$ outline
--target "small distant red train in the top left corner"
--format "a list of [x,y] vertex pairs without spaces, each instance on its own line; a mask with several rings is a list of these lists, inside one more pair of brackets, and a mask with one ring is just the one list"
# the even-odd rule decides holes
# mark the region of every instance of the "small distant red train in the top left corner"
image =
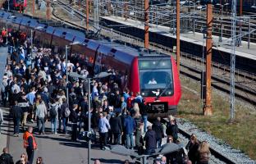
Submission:
[[24,11],[27,7],[27,0],[6,0],[2,7],[7,10]]

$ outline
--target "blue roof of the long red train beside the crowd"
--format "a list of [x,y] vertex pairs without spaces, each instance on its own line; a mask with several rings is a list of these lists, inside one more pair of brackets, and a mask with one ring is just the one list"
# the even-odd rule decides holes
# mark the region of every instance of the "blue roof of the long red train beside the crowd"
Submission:
[[125,62],[126,64],[130,64],[135,57],[142,55],[157,55],[158,57],[161,57],[159,54],[162,54],[163,56],[167,56],[166,54],[159,52],[144,52],[141,51],[140,48],[131,48],[130,46],[118,43],[117,41],[110,41],[108,39],[86,39],[85,33],[81,32],[80,30],[73,30],[62,26],[53,27],[40,23],[41,21],[30,16],[23,16],[21,14],[13,16],[7,11],[0,11],[0,18],[1,17],[3,20],[8,20],[8,22],[10,21],[16,24],[30,26],[34,30],[54,34],[55,36],[65,38],[66,40],[69,40],[75,44],[82,44],[87,48],[94,50],[98,48],[98,52],[115,57],[118,61]]

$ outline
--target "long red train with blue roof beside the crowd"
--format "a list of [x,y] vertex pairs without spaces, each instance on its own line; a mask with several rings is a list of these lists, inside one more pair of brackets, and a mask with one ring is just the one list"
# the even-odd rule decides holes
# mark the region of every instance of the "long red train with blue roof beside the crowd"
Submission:
[[11,16],[11,13],[0,11],[0,25],[5,27],[7,22],[12,30],[21,30],[28,36],[33,34],[33,42],[43,46],[65,48],[73,43],[72,53],[80,54],[80,62],[93,59],[94,74],[103,67],[119,71],[124,77],[121,89],[140,93],[149,107],[149,117],[176,114],[181,99],[181,81],[173,57],[104,39],[86,39],[78,30],[40,24],[29,16]]

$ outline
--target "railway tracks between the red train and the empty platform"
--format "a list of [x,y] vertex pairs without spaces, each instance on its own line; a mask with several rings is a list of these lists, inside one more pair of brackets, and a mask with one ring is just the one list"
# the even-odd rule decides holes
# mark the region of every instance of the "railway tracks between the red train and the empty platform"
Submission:
[[[67,7],[65,2],[58,1],[59,5],[62,5],[63,8],[66,9],[66,11],[70,12],[72,9],[71,7]],[[74,11],[74,10],[73,10]],[[53,13],[54,16],[54,13]],[[85,16],[80,11],[75,11],[75,16],[77,16],[80,20],[85,19]],[[56,16],[58,17],[58,16]],[[62,21],[67,21],[63,20]],[[72,23],[71,21],[68,22],[72,26],[77,26],[76,24]],[[118,38],[119,40],[122,40],[124,43],[131,43],[135,45],[139,45],[141,47],[144,46],[144,42],[141,39],[135,38],[135,36],[129,36],[127,34],[121,34],[121,32],[116,30],[111,30],[107,27],[104,27],[101,25],[101,34],[115,39]],[[81,27],[83,29],[83,27]],[[112,35],[117,35],[117,37],[113,37]],[[122,37],[120,37],[122,36]],[[127,39],[130,38],[130,39]],[[137,41],[136,43],[134,41]],[[151,48],[157,51],[162,51],[167,54],[170,54],[172,52],[171,48],[163,47],[162,45],[151,43]],[[186,76],[190,76],[190,78],[194,80],[201,80],[201,72],[202,72],[202,62],[201,58],[193,57],[192,55],[181,52],[181,73]],[[217,71],[216,71],[217,70]],[[230,68],[229,66],[223,66],[219,65],[218,63],[213,63],[213,87],[219,90],[222,90],[223,92],[229,93],[230,92]],[[245,78],[246,77],[246,78]],[[256,80],[252,79],[252,76],[249,73],[241,73],[241,71],[236,71],[236,78],[237,82],[235,83],[235,96],[237,98],[241,98],[245,100],[246,102],[249,102],[251,104],[256,104],[256,91],[253,86],[256,84]],[[254,78],[254,77],[253,77]],[[239,83],[240,81],[240,83]],[[255,83],[252,84],[248,81],[254,81]],[[249,84],[246,84],[249,83]]]

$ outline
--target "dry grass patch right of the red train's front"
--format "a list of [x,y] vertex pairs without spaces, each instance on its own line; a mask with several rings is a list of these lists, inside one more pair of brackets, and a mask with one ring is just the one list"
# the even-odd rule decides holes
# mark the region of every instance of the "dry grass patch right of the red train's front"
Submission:
[[[256,109],[246,103],[235,102],[235,122],[229,120],[229,95],[213,89],[213,116],[203,116],[200,99],[200,83],[181,75],[182,97],[179,116],[186,118],[202,130],[213,134],[223,143],[240,149],[252,159],[256,159]],[[189,89],[188,89],[189,88]],[[196,93],[192,92],[193,89]]]

